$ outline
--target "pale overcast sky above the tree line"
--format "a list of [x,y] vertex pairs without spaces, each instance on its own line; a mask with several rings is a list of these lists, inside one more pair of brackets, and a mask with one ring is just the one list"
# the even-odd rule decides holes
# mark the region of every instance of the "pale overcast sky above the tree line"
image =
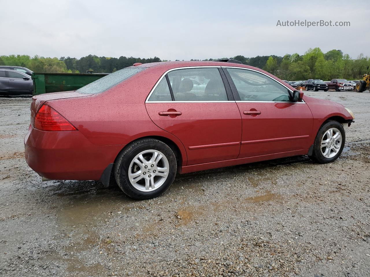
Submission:
[[[368,1],[0,0],[0,55],[161,59],[303,54],[370,56]],[[277,21],[350,27],[276,27]]]

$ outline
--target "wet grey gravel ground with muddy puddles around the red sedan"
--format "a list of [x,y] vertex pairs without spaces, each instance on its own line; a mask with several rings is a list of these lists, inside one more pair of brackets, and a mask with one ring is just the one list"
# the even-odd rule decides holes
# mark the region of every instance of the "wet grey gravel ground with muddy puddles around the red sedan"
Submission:
[[0,98],[0,276],[370,276],[370,93],[331,164],[305,156],[179,175],[132,201],[24,160],[30,98]]

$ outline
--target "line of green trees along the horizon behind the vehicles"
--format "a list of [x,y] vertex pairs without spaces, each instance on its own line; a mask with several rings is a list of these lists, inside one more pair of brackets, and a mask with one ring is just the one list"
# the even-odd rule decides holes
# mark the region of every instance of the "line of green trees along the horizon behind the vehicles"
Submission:
[[[341,50],[330,50],[323,53],[320,48],[309,48],[303,55],[298,53],[286,54],[284,57],[257,56],[247,58],[242,55],[230,57],[242,64],[265,69],[285,80],[307,80],[322,79],[331,80],[335,78],[362,79],[363,73],[368,73],[370,58],[360,54],[356,59]],[[199,59],[191,59],[199,61]],[[212,61],[215,59],[204,59]],[[59,72],[59,73],[85,73],[94,70],[95,73],[111,73],[121,68],[131,66],[136,62],[143,64],[149,62],[167,61],[158,57],[134,58],[124,57],[98,57],[88,55],[80,59],[71,57],[45,58],[40,56],[30,57],[28,55],[0,56],[0,65],[24,66],[35,72]],[[178,60],[176,60],[178,61]]]

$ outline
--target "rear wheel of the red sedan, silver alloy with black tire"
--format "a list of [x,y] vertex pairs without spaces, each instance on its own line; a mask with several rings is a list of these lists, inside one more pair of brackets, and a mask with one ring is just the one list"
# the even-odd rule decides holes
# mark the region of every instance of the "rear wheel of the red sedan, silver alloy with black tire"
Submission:
[[165,192],[175,179],[177,163],[171,148],[155,138],[127,145],[118,156],[114,177],[129,197],[150,199]]

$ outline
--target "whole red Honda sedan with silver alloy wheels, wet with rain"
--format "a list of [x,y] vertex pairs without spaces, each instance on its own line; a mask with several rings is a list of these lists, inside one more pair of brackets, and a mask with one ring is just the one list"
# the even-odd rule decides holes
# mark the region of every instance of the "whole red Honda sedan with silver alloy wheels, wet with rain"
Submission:
[[71,92],[33,96],[28,165],[47,179],[117,182],[135,199],[176,172],[309,155],[336,160],[353,113],[233,62],[134,64]]

